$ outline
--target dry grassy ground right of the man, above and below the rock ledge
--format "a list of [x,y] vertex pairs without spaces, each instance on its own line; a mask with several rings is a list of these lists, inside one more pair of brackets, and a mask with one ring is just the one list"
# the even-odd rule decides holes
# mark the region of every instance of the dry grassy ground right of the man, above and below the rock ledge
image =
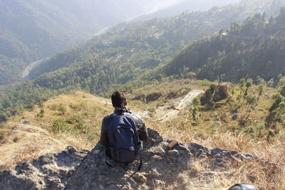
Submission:
[[[249,92],[257,93],[256,88],[250,88]],[[259,189],[285,189],[285,130],[279,126],[279,133],[268,138],[266,135],[268,130],[263,127],[268,108],[273,102],[271,99],[273,94],[274,89],[265,89],[257,107],[250,112],[243,126],[239,124],[239,120],[232,120],[234,114],[238,114],[239,118],[246,118],[248,115],[247,104],[237,101],[239,95],[237,87],[229,104],[224,105],[226,102],[224,100],[214,109],[203,110],[201,106],[196,121],[192,119],[189,109],[181,110],[177,118],[168,122],[147,120],[147,126],[160,132],[163,137],[177,139],[180,142],[196,142],[209,149],[219,147],[246,152],[274,163],[271,165],[264,162],[231,160],[224,169],[226,172],[220,172],[209,169],[204,164],[208,161],[196,160],[194,164],[196,169],[182,173],[181,181],[168,188],[228,189],[233,184],[249,183]],[[160,102],[165,101],[167,100],[160,99]],[[166,104],[168,102],[170,101]],[[145,109],[149,106],[153,105],[142,105]],[[191,176],[195,173],[199,175]]]

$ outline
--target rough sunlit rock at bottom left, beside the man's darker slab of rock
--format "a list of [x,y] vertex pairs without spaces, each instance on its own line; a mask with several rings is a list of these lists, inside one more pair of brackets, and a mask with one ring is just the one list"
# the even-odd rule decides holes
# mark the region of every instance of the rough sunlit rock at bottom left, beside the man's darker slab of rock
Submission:
[[18,164],[11,171],[0,171],[0,189],[63,189],[87,153],[67,147],[58,154],[45,154]]

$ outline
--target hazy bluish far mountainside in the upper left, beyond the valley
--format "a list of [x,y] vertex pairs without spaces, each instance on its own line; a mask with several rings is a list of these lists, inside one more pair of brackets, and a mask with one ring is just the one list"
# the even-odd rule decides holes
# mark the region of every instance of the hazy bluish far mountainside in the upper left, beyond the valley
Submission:
[[29,63],[86,41],[149,7],[132,0],[1,1],[0,85],[21,80]]

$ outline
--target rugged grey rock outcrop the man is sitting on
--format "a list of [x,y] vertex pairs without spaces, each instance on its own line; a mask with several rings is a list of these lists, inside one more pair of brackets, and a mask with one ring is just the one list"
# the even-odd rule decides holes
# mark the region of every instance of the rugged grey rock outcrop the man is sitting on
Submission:
[[177,181],[177,176],[190,170],[197,158],[211,158],[209,167],[223,167],[225,158],[253,159],[225,149],[207,149],[195,143],[179,143],[173,149],[155,130],[148,129],[149,140],[139,161],[129,166],[105,164],[103,148],[97,144],[93,150],[68,147],[58,154],[45,154],[38,159],[17,165],[11,171],[0,172],[0,189],[155,189]]

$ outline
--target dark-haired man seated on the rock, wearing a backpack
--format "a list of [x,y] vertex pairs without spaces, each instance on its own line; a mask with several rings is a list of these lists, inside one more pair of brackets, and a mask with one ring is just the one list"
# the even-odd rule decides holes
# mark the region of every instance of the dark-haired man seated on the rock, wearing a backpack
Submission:
[[111,100],[115,110],[103,119],[100,144],[105,147],[107,157],[128,164],[142,150],[141,140],[147,140],[147,130],[141,117],[126,108],[128,101],[125,92],[113,93]]

